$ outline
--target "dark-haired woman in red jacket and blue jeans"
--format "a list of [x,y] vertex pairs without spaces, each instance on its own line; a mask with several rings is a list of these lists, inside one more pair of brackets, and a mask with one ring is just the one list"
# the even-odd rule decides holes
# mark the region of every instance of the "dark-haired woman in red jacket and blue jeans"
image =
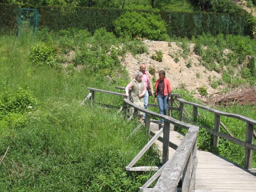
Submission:
[[[165,78],[164,70],[160,70],[158,74],[159,74],[159,79],[156,81],[155,102],[157,98],[160,114],[166,115],[168,100],[171,100],[171,85],[170,85],[170,81],[167,78]],[[161,119],[161,124],[163,127],[164,126],[163,119]]]

